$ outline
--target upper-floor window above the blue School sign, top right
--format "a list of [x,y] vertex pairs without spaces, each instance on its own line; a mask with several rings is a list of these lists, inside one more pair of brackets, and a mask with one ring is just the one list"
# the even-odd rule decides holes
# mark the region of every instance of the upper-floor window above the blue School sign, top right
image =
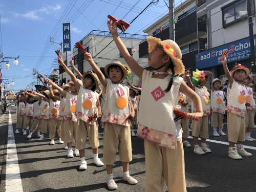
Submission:
[[[223,27],[247,18],[246,0],[232,2],[222,8]],[[254,0],[251,0],[251,14],[255,14]]]

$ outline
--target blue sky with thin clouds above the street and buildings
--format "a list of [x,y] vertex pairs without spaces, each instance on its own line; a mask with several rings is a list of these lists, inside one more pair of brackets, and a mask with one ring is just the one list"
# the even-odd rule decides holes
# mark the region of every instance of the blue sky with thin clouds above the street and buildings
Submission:
[[[126,31],[127,33],[145,34],[143,29],[154,23],[168,12],[165,3],[159,0],[141,14]],[[131,22],[151,1],[146,0],[2,0],[0,54],[4,57],[16,57],[18,66],[13,65],[14,59],[8,59],[10,69],[5,69],[1,63],[2,78],[14,81],[9,89],[19,91],[36,81],[33,78],[33,68],[42,75],[50,75],[56,54],[60,49],[58,44],[51,44],[49,36],[55,42],[62,42],[62,23],[71,23],[71,45],[82,39],[92,30],[108,31],[107,15],[112,14],[118,19]],[[183,1],[182,1],[183,2]],[[176,0],[178,5],[180,1]],[[73,50],[73,47],[71,47]],[[2,61],[2,58],[1,58]],[[4,80],[7,81],[7,80]],[[30,90],[31,90],[31,86]]]

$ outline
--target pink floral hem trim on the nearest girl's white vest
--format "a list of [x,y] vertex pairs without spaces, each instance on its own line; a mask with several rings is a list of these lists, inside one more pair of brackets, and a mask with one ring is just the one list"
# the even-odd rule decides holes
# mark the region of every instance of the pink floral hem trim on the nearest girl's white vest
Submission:
[[176,150],[177,148],[176,135],[156,131],[156,130],[150,129],[150,127],[143,126],[140,123],[138,124],[137,136],[151,143],[154,143],[156,145],[160,145],[166,148],[172,148],[174,150]]

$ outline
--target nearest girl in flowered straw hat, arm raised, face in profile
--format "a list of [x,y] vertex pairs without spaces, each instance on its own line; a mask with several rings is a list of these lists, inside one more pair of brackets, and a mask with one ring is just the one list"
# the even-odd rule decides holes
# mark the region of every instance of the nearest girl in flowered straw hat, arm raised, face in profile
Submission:
[[150,72],[127,51],[117,22],[108,20],[108,27],[123,58],[143,82],[137,136],[145,140],[146,191],[162,191],[164,180],[168,191],[186,191],[182,132],[173,113],[179,91],[197,106],[196,113],[187,113],[188,119],[201,117],[203,112],[198,95],[179,77],[184,74],[180,48],[173,40],[148,37],[148,65],[155,69]]

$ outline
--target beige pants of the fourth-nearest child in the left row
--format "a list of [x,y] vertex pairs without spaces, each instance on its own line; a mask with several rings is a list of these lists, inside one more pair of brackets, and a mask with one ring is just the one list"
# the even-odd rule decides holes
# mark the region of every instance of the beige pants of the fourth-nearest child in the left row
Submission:
[[[66,143],[69,143],[73,140],[73,137],[75,138],[76,137],[76,126],[77,126],[77,123],[75,121],[72,121],[71,119],[70,120],[64,120],[64,136],[65,137],[62,137],[62,139],[64,139],[64,141]],[[61,135],[62,135],[62,132],[61,132]]]

